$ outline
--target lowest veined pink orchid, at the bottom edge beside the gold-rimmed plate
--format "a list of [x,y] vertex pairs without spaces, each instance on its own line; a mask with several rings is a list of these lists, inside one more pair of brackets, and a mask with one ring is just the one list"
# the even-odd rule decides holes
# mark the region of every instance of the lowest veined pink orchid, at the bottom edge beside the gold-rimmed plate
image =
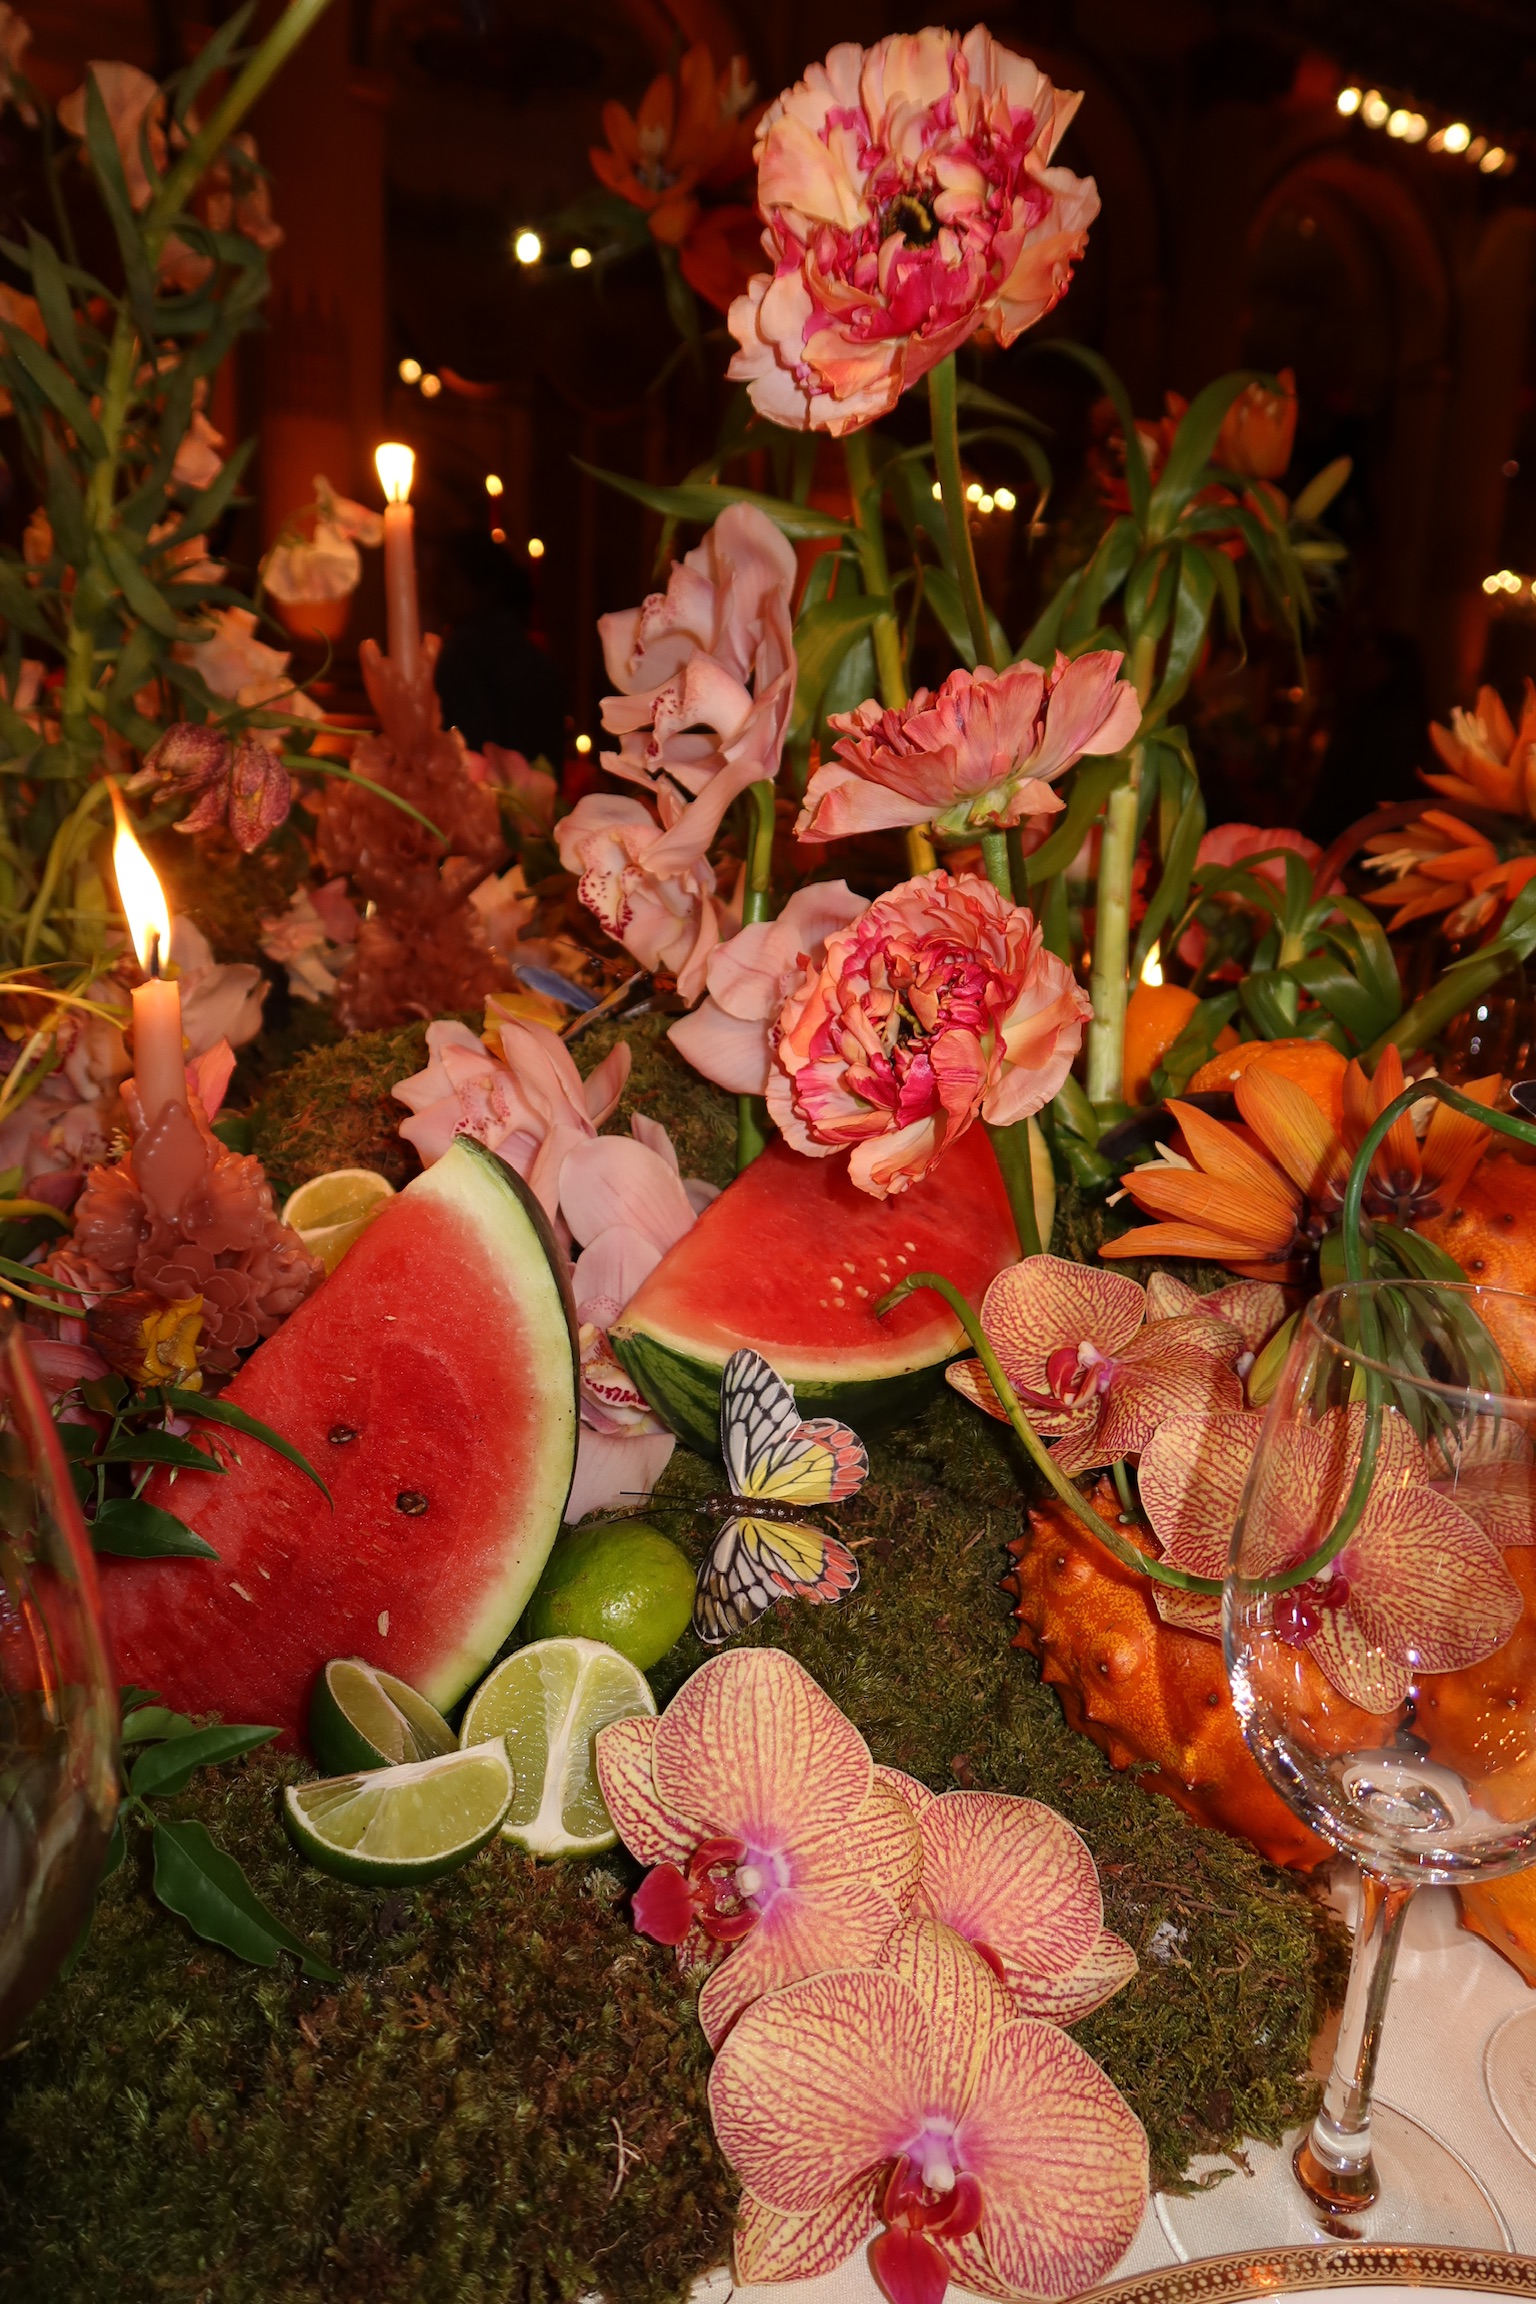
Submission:
[[951,2279],[1071,2297],[1147,2205],[1147,2138],[1115,2085],[930,1919],[907,1919],[880,1968],[746,2009],[709,2113],[746,2186],[739,2281],[834,2272],[880,2226],[868,2260],[891,2304],[940,2304]]

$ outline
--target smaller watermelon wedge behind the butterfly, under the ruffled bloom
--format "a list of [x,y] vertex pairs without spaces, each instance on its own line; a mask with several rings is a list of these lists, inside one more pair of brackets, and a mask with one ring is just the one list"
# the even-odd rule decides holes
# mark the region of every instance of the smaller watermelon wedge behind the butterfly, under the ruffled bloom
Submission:
[[783,1138],[725,1187],[624,1306],[613,1348],[689,1447],[718,1454],[721,1371],[753,1346],[806,1417],[880,1431],[940,1385],[965,1332],[921,1293],[875,1318],[907,1272],[942,1272],[972,1304],[1018,1260],[1018,1233],[981,1129],[891,1200],[847,1182],[847,1161]]

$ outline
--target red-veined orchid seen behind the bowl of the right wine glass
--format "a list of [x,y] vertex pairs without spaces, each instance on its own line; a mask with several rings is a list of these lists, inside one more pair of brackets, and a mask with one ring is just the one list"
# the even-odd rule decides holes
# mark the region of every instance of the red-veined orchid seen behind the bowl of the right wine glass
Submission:
[[[1315,1424],[1280,1426],[1255,1458],[1262,1428],[1257,1415],[1179,1417],[1142,1454],[1142,1505],[1177,1567],[1225,1574],[1250,1470],[1250,1576],[1297,1567],[1336,1525],[1361,1461],[1366,1410],[1331,1408]],[[1432,1486],[1432,1475],[1407,1419],[1386,1408],[1370,1495],[1349,1541],[1317,1576],[1276,1599],[1280,1636],[1306,1647],[1363,1712],[1391,1712],[1419,1673],[1481,1663],[1520,1622],[1522,1594],[1499,1546]],[[1168,1615],[1161,1592],[1158,1606]]]

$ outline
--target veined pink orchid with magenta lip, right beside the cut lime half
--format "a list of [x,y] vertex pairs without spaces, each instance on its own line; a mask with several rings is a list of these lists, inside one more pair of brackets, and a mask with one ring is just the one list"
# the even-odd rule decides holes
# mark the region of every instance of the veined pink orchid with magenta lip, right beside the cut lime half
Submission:
[[728,1958],[698,2000],[714,2048],[762,1993],[877,1958],[912,1901],[919,1832],[868,1744],[774,1647],[712,1657],[659,1721],[599,1730],[619,1839],[652,1871],[636,1928]]

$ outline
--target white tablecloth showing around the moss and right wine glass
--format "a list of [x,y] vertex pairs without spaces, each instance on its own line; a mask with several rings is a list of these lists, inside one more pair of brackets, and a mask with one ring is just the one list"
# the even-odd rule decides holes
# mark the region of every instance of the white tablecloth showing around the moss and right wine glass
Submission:
[[[1536,2256],[1536,2166],[1511,2143],[1483,2085],[1488,2037],[1527,2007],[1536,2007],[1536,1993],[1508,1961],[1455,1924],[1453,1894],[1421,1889],[1407,1915],[1377,2094],[1455,2145],[1492,2193],[1515,2249]],[[1174,2260],[1156,2210],[1147,2207],[1117,2276]],[[965,2290],[949,2295],[960,2304]],[[864,2251],[820,2281],[735,2288],[721,2272],[695,2288],[695,2304],[732,2297],[735,2304],[884,2304]]]

